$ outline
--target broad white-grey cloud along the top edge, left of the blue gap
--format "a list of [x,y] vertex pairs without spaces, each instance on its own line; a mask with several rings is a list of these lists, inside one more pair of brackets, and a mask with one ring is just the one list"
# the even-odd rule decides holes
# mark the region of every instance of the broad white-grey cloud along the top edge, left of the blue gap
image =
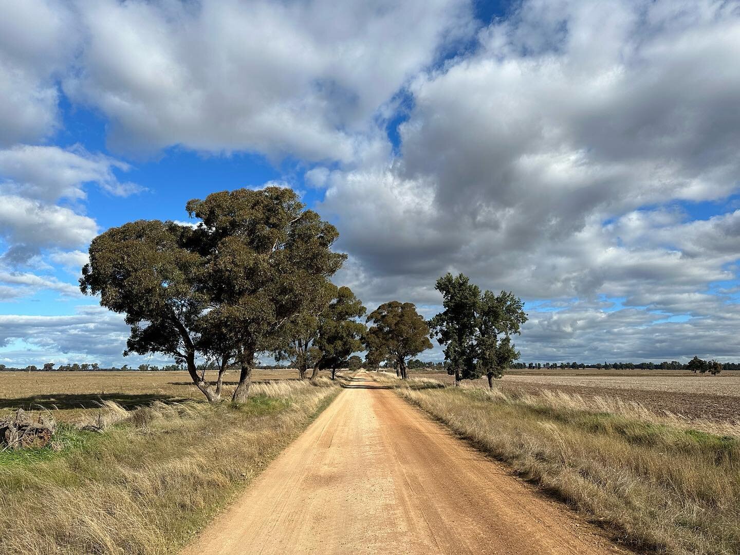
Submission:
[[85,45],[64,90],[127,150],[349,161],[353,131],[471,30],[464,0],[77,5]]

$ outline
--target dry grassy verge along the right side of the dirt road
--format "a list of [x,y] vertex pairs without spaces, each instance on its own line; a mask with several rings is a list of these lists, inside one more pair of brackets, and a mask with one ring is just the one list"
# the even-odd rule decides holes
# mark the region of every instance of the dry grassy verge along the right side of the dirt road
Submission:
[[739,426],[698,426],[608,398],[514,396],[430,382],[411,380],[398,391],[625,544],[670,554],[740,553]]

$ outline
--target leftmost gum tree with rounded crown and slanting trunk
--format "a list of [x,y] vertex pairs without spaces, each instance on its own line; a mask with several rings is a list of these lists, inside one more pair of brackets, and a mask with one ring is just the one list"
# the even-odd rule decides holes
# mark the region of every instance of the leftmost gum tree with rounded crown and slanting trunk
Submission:
[[210,402],[218,397],[198,373],[201,319],[211,299],[203,291],[206,260],[189,248],[193,230],[172,222],[139,220],[112,227],[90,243],[80,289],[100,295],[124,314],[131,332],[124,355],[159,352],[184,362]]

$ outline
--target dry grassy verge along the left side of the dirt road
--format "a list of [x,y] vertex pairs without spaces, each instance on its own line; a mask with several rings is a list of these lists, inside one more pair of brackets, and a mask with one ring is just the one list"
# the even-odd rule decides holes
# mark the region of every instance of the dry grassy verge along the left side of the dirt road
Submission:
[[334,398],[326,381],[258,384],[239,408],[109,402],[90,414],[104,433],[63,424],[59,452],[0,453],[0,553],[176,551]]

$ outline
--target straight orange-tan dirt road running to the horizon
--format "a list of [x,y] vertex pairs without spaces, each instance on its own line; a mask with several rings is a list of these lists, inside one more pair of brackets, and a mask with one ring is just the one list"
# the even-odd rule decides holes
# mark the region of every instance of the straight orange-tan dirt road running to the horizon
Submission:
[[184,551],[615,553],[571,511],[364,372]]

